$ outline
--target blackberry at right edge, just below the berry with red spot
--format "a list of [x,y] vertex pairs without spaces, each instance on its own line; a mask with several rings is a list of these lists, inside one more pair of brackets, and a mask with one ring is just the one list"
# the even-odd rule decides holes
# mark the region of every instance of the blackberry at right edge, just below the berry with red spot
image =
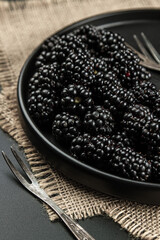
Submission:
[[140,81],[133,88],[133,93],[137,103],[146,105],[148,107],[153,107],[158,97],[156,86],[149,81]]

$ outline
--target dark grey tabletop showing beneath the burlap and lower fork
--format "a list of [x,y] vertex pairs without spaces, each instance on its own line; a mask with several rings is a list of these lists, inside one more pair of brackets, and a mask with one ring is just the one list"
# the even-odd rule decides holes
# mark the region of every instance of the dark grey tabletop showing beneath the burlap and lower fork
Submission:
[[[16,145],[0,130],[0,151],[13,159],[10,145]],[[23,153],[22,153],[23,155]],[[70,240],[74,239],[62,222],[51,223],[39,200],[14,178],[0,154],[0,240]],[[129,240],[112,219],[102,216],[79,221],[96,240]]]

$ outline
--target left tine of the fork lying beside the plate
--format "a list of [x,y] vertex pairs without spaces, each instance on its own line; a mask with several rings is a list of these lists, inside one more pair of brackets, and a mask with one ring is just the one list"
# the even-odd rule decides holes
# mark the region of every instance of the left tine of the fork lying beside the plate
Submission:
[[13,174],[15,175],[15,177],[27,188],[29,189],[30,184],[26,181],[26,179],[20,174],[19,171],[17,171],[17,169],[14,167],[14,165],[12,164],[12,162],[9,160],[9,158],[7,157],[7,155],[5,154],[4,151],[2,151],[2,156],[4,158],[4,160],[6,161],[6,163],[8,164],[9,168],[11,169],[11,171],[13,172]]

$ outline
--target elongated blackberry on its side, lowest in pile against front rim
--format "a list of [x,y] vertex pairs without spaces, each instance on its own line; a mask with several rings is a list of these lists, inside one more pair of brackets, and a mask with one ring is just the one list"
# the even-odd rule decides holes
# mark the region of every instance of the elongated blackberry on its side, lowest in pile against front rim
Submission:
[[138,181],[147,181],[151,175],[151,163],[130,147],[117,147],[109,160],[112,173]]

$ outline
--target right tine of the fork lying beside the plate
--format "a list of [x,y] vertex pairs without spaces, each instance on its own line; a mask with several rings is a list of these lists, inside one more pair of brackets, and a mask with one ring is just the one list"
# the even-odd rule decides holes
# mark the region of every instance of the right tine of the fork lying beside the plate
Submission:
[[12,151],[13,155],[15,156],[17,162],[19,163],[19,165],[21,166],[21,168],[25,172],[25,174],[31,180],[31,182],[33,182],[33,181],[35,182],[35,177],[33,176],[33,174],[30,171],[30,169],[27,167],[27,165],[22,161],[22,159],[20,158],[20,156],[18,155],[16,150],[13,147],[11,147],[11,151]]

